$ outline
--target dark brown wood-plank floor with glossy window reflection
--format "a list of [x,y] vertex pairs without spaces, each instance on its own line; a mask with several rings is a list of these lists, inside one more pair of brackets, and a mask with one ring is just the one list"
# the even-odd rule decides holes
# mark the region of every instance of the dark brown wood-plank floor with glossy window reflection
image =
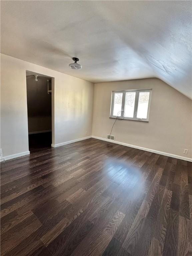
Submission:
[[190,162],[88,139],[1,164],[1,256],[192,255]]

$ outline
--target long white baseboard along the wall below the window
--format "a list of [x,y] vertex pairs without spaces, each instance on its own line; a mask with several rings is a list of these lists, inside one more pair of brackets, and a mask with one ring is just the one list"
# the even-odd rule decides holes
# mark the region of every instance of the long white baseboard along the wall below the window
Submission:
[[166,152],[161,152],[161,151],[150,149],[150,148],[143,148],[143,147],[139,147],[139,146],[135,146],[135,145],[131,145],[131,144],[115,141],[115,140],[109,140],[109,139],[105,139],[105,138],[101,138],[101,137],[96,137],[96,136],[92,136],[92,138],[95,138],[95,139],[98,139],[98,140],[104,140],[104,141],[107,141],[107,142],[112,142],[112,143],[119,144],[119,145],[126,146],[126,147],[141,149],[141,150],[144,150],[144,151],[148,151],[148,152],[151,152],[151,153],[156,153],[156,154],[163,155],[163,156],[169,156],[169,157],[173,157],[173,158],[177,158],[177,159],[192,162],[192,158],[188,158],[188,157],[184,157],[184,156],[178,156],[178,155],[174,155],[174,154],[170,154],[170,153],[166,153]]

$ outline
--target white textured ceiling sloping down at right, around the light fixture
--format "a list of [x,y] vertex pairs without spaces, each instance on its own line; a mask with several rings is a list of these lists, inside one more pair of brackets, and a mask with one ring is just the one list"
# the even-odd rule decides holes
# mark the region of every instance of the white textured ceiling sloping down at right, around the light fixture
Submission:
[[2,53],[91,82],[158,77],[192,98],[191,46],[191,1],[1,1]]

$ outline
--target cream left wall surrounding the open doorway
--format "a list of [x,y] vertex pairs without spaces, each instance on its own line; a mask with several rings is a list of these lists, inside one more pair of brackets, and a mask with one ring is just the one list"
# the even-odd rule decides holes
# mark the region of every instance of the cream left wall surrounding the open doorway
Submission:
[[[54,77],[54,144],[90,136],[91,82],[1,54],[1,148],[3,157],[27,152],[26,70]],[[74,72],[79,72],[74,71]],[[53,84],[52,84],[53,85]]]

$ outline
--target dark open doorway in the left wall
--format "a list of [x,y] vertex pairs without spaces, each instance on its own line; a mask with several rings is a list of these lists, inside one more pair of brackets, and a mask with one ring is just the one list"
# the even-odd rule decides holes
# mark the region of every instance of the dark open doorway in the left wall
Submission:
[[26,71],[29,151],[53,143],[54,78]]

